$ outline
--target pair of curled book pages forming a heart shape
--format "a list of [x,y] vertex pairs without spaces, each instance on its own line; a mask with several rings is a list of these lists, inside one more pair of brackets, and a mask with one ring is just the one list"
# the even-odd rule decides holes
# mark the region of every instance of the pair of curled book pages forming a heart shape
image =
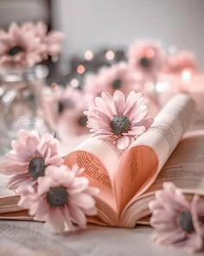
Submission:
[[67,155],[66,164],[72,167],[77,163],[84,167],[83,175],[92,186],[99,187],[102,220],[116,221],[115,216],[110,216],[116,213],[119,218],[129,201],[150,187],[188,128],[193,113],[191,97],[176,95],[156,116],[151,127],[125,152],[116,148],[112,141],[88,138]]

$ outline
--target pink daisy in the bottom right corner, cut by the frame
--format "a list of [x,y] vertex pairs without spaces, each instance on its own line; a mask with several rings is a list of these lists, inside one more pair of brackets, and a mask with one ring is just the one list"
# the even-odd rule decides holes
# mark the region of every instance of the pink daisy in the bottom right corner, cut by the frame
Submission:
[[150,202],[150,224],[155,227],[153,240],[163,246],[201,251],[204,233],[201,228],[203,210],[202,206],[201,211],[198,211],[196,196],[189,202],[181,189],[171,182],[164,182],[163,190],[156,192],[156,200]]

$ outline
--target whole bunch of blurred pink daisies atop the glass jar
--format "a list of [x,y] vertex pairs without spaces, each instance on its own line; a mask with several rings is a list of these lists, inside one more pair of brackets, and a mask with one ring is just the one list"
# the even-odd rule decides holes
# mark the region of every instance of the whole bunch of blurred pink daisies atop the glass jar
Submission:
[[61,50],[62,34],[49,32],[44,23],[11,23],[8,32],[0,30],[0,66],[10,69],[29,69],[35,63],[56,57]]

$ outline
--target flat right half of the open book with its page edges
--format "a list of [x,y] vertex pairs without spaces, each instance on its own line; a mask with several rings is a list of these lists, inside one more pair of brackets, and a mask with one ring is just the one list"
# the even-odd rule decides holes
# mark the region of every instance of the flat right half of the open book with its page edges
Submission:
[[135,226],[137,220],[150,214],[148,204],[155,198],[163,182],[171,181],[188,194],[204,196],[204,131],[188,133],[169,157],[156,181],[141,196],[131,200],[123,214],[124,226]]

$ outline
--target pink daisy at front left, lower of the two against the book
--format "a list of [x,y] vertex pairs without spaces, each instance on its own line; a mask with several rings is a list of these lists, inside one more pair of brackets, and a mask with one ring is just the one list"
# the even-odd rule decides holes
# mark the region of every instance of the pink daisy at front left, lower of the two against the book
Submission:
[[34,220],[45,221],[55,233],[74,230],[74,225],[86,227],[86,215],[97,213],[94,197],[99,189],[89,187],[83,169],[74,166],[47,167],[45,176],[38,179],[35,192],[23,195],[19,206],[29,209]]

